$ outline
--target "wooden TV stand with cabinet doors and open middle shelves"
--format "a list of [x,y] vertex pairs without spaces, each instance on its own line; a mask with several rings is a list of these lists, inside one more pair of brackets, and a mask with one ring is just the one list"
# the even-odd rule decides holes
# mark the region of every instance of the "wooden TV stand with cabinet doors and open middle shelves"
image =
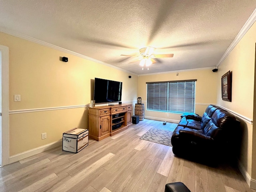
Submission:
[[100,141],[132,124],[132,104],[89,107],[89,137]]

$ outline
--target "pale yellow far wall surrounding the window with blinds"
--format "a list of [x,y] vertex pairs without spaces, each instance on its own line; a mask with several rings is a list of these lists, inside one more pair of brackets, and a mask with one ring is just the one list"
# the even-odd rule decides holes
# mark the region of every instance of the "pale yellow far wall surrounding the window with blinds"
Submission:
[[[197,79],[195,112],[202,115],[208,104],[216,103],[217,76],[218,75],[210,69],[179,72],[178,76],[176,76],[176,72],[139,76],[138,96],[142,98],[146,108],[146,82]],[[167,114],[164,112],[152,112],[147,110],[145,110],[145,116],[165,120],[167,119],[170,122],[177,122],[180,120],[180,114],[170,113],[169,117],[167,117]]]

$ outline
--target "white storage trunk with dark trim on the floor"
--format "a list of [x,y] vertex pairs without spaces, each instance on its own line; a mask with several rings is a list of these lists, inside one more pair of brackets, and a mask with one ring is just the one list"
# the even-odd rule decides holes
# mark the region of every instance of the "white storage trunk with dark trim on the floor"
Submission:
[[88,130],[74,128],[63,133],[62,150],[78,153],[88,146]]

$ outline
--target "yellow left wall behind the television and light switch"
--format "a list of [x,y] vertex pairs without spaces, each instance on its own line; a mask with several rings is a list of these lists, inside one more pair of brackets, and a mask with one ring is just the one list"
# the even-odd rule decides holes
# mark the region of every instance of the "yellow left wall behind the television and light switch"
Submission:
[[[137,100],[136,75],[4,33],[0,44],[9,48],[10,112],[89,105],[95,77],[123,82],[122,101]],[[60,61],[63,56],[68,62]],[[13,101],[14,94],[21,95],[21,102]],[[13,156],[61,140],[71,128],[88,128],[88,107],[10,114],[9,118]],[[42,140],[44,132],[47,138]]]

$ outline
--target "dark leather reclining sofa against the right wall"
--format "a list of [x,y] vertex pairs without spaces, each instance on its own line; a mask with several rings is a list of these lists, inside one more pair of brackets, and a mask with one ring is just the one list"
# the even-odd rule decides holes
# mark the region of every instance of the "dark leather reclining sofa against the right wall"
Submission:
[[239,121],[233,114],[209,105],[203,116],[181,116],[171,142],[172,151],[184,158],[214,162],[234,155],[237,148]]

